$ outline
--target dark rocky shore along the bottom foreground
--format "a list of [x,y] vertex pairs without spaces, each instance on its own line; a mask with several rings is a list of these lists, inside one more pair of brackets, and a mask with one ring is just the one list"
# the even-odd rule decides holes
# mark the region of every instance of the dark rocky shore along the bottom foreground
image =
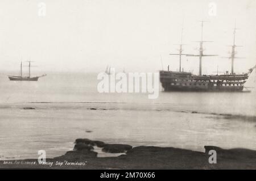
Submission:
[[[118,157],[97,157],[95,148]],[[216,151],[216,162],[209,163],[210,150]],[[205,146],[205,153],[178,148],[107,144],[79,138],[72,151],[60,157],[16,161],[0,161],[0,169],[256,169],[256,151],[221,149]]]

